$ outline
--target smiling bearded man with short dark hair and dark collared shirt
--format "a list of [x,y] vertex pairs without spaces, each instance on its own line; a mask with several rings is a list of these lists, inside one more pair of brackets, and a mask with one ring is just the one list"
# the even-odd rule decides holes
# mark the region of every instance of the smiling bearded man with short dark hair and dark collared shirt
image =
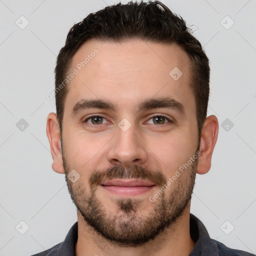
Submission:
[[35,255],[252,255],[190,214],[218,121],[206,117],[208,58],[181,17],[159,1],[90,13],[58,54],[54,94],[52,169],[78,221]]

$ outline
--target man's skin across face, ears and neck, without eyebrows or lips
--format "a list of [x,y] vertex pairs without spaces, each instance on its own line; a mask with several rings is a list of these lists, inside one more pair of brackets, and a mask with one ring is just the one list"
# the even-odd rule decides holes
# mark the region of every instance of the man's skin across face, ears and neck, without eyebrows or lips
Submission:
[[[75,53],[70,70],[94,48],[98,54],[68,85],[62,148],[55,113],[48,114],[46,126],[52,169],[65,175],[75,169],[80,175],[75,182],[66,179],[78,209],[75,255],[142,256],[148,251],[153,256],[189,255],[194,247],[189,234],[190,196],[195,173],[204,174],[210,169],[217,118],[210,115],[205,119],[198,143],[195,98],[188,85],[189,57],[178,45],[142,40],[103,43],[93,39]],[[178,80],[169,75],[175,66],[183,73]],[[166,95],[184,106],[184,115],[162,107],[141,111],[136,108],[141,100]],[[109,100],[118,109],[91,108],[72,116],[74,104],[82,98]],[[92,114],[105,119],[100,119],[101,124],[92,124],[91,118],[84,122]],[[159,124],[153,114],[173,122],[163,119]],[[123,118],[131,125],[126,131],[118,126]],[[149,196],[198,148],[197,160],[151,202]],[[102,188],[100,181],[121,173],[124,178],[131,175],[156,185],[145,193],[126,197]],[[157,219],[163,224],[159,232]]]

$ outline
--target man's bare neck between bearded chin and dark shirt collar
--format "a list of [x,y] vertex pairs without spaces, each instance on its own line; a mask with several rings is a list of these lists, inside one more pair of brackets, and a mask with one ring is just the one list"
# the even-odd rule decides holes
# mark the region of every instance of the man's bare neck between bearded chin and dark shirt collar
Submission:
[[75,255],[144,256],[150,251],[152,256],[188,256],[194,247],[189,233],[189,210],[190,203],[187,204],[182,216],[168,228],[165,228],[154,239],[136,247],[120,247],[106,240],[90,227],[77,211],[78,239],[75,244]]

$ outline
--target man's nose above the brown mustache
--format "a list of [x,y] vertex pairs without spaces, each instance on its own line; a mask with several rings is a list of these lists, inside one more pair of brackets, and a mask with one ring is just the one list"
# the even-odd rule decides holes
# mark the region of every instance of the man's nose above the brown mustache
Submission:
[[146,145],[134,124],[126,131],[117,126],[109,142],[107,159],[110,163],[128,168],[146,162]]

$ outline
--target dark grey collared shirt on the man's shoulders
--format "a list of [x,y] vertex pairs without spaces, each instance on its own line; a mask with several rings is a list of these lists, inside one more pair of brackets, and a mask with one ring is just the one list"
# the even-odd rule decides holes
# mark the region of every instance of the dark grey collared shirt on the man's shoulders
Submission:
[[[223,243],[211,239],[203,223],[190,213],[190,236],[195,245],[189,256],[255,256],[246,251],[231,249]],[[31,256],[75,256],[78,222],[69,229],[65,240],[55,246]]]

